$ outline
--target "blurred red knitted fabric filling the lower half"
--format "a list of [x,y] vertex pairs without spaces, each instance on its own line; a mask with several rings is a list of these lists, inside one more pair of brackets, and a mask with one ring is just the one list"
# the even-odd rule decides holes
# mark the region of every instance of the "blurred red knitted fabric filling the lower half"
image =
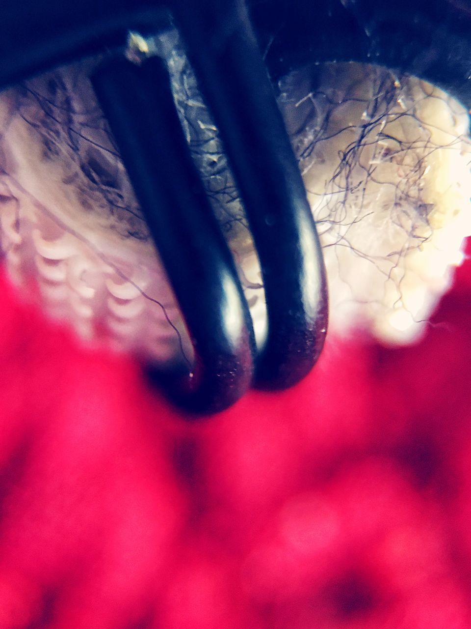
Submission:
[[199,423],[0,284],[0,629],[469,629],[470,262]]

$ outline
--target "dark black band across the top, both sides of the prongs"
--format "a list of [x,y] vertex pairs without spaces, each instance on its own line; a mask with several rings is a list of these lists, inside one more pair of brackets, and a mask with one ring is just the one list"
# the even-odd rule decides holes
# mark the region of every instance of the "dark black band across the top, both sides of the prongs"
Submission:
[[[168,24],[181,0],[16,0],[0,5],[0,86],[77,57],[124,46],[128,30]],[[205,8],[212,0],[190,0]],[[215,3],[222,9],[228,0]],[[471,107],[470,0],[249,0],[275,79],[313,60],[398,68]]]

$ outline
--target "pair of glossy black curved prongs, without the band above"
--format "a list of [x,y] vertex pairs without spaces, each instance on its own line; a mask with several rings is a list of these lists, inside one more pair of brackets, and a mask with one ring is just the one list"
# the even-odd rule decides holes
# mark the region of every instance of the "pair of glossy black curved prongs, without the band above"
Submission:
[[[308,373],[325,337],[327,290],[300,170],[246,8],[175,3],[172,17],[219,128],[260,260],[268,335],[259,355],[241,282],[180,128],[165,62],[113,59],[92,84],[195,347],[191,377],[167,375],[166,389],[188,408],[211,411],[236,401],[252,372],[256,384],[273,388]],[[184,255],[176,257],[176,250]]]

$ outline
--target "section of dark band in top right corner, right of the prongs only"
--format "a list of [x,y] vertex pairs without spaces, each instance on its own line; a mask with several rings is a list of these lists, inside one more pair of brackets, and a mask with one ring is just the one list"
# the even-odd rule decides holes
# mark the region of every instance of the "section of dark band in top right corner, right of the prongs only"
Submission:
[[385,65],[426,79],[471,108],[470,0],[254,0],[274,79],[322,61]]

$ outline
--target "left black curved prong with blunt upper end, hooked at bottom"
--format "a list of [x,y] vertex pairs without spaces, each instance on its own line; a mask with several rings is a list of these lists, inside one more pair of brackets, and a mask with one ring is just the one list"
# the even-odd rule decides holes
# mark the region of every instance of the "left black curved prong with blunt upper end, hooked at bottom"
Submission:
[[180,304],[195,348],[193,374],[162,374],[178,406],[220,411],[250,386],[254,333],[229,248],[183,136],[163,61],[116,58],[95,92]]

